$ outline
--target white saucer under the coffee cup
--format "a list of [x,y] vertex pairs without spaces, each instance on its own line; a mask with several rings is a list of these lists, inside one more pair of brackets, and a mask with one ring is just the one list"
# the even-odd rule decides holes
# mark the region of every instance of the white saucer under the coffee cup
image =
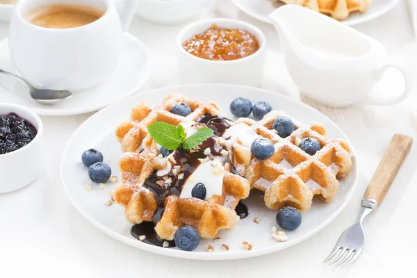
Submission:
[[[2,70],[15,72],[8,55],[8,40],[0,42],[0,65]],[[90,90],[74,92],[69,99],[54,105],[39,104],[33,100],[25,85],[1,74],[1,102],[19,104],[39,115],[76,115],[97,111],[109,104],[133,95],[149,78],[151,61],[145,44],[132,35],[124,35],[124,54],[113,76],[108,81]],[[39,65],[42,70],[42,65]]]

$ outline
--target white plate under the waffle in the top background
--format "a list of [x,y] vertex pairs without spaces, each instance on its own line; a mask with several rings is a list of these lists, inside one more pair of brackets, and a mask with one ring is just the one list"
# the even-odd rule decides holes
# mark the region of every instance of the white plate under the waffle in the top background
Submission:
[[[279,6],[284,5],[284,3],[273,3],[270,0],[232,0],[236,6],[245,14],[250,15],[261,22],[271,23],[268,19],[268,15],[272,13]],[[384,15],[395,5],[398,4],[400,0],[373,0],[372,5],[365,13],[353,13],[343,23],[347,25],[356,25],[363,22],[368,22],[371,19],[375,19]]]

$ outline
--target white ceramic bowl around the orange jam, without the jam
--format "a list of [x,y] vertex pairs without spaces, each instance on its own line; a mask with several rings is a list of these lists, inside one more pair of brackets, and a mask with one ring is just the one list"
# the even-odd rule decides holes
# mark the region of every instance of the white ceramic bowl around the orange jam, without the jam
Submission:
[[[189,54],[183,42],[216,24],[223,28],[240,28],[256,37],[259,49],[237,60],[207,60]],[[262,83],[266,38],[259,28],[235,19],[204,19],[183,28],[177,36],[178,70],[181,83],[229,83],[258,87]]]

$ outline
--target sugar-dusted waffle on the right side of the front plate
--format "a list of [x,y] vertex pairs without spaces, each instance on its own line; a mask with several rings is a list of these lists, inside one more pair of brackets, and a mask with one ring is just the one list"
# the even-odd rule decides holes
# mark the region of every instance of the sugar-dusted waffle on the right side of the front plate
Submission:
[[[338,179],[350,171],[352,160],[350,149],[343,140],[325,138],[325,127],[317,122],[302,126],[293,120],[295,131],[287,138],[281,138],[272,129],[275,119],[285,115],[281,111],[271,111],[259,122],[240,118],[235,124],[247,124],[259,136],[270,139],[275,144],[275,154],[265,161],[252,158],[245,169],[240,170],[250,181],[251,188],[265,192],[266,206],[279,209],[293,206],[307,211],[314,195],[330,202],[336,195]],[[316,138],[322,147],[310,156],[297,147],[302,138]]]

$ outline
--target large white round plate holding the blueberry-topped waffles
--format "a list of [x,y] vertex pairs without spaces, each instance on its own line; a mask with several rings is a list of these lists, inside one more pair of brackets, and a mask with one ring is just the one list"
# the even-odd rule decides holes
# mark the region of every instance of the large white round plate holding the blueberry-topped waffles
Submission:
[[[107,183],[106,188],[102,190],[99,190],[97,184],[92,184],[88,178],[87,167],[81,163],[81,154],[90,147],[99,149],[104,155],[104,162],[111,166],[113,174],[120,177],[117,161],[122,152],[120,143],[115,138],[115,127],[129,119],[132,106],[142,101],[147,101],[149,106],[157,106],[161,104],[163,97],[172,93],[182,93],[200,100],[213,100],[226,117],[232,117],[229,104],[236,97],[247,97],[252,101],[268,101],[274,109],[284,110],[302,123],[311,122],[311,120],[322,122],[327,128],[329,138],[347,139],[345,133],[332,120],[315,109],[276,92],[257,88],[237,85],[186,85],[152,90],[124,99],[92,115],[81,124],[67,143],[60,165],[61,180],[71,202],[88,221],[104,233],[123,243],[166,256],[202,260],[240,259],[276,252],[300,243],[334,220],[350,200],[358,177],[357,163],[354,158],[352,170],[345,179],[340,181],[341,188],[333,202],[327,204],[315,197],[311,209],[302,213],[301,226],[295,231],[288,231],[288,240],[284,243],[271,238],[272,226],[277,226],[276,211],[265,206],[261,193],[251,193],[250,197],[244,200],[249,208],[249,216],[240,220],[235,229],[220,231],[218,236],[222,240],[219,242],[202,239],[197,250],[193,252],[156,247],[136,240],[130,234],[132,224],[124,218],[124,208],[116,203],[112,206],[104,206],[115,184]],[[85,189],[86,183],[92,184],[91,191]],[[259,224],[253,221],[254,218],[260,218]],[[243,249],[240,244],[244,240],[248,240],[254,249],[251,251]],[[230,250],[222,250],[221,243],[229,245]],[[204,250],[208,244],[213,245],[215,252],[208,253]]]

